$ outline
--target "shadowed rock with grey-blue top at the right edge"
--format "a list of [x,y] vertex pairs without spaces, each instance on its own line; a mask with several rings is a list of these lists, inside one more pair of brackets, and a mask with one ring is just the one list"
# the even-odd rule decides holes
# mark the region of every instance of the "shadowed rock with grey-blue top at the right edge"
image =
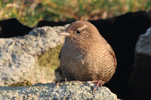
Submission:
[[149,100],[151,90],[151,28],[140,35],[136,44],[134,70],[129,91],[135,100]]

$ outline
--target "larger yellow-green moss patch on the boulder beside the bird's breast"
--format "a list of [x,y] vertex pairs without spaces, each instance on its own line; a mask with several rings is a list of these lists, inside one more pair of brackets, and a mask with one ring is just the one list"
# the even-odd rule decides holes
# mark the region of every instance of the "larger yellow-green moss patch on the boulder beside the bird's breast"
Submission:
[[57,69],[59,66],[59,52],[62,48],[62,45],[57,46],[56,48],[50,49],[41,56],[38,57],[38,63],[41,67],[51,67],[52,69]]

